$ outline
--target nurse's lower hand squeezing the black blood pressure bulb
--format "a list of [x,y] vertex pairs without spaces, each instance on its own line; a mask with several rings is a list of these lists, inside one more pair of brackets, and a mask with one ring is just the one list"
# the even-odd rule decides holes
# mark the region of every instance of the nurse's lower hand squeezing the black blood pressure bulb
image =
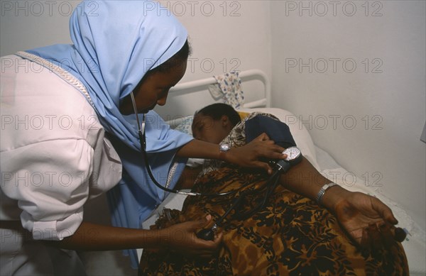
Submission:
[[196,236],[197,231],[211,226],[212,216],[208,215],[199,221],[186,221],[161,229],[160,248],[194,257],[211,258],[219,250],[223,233],[217,234],[214,241],[204,241]]

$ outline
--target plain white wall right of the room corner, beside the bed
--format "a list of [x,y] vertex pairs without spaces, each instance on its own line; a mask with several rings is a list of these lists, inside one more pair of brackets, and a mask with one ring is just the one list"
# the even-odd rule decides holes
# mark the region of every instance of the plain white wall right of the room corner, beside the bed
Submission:
[[425,228],[425,1],[272,1],[271,13],[275,106]]

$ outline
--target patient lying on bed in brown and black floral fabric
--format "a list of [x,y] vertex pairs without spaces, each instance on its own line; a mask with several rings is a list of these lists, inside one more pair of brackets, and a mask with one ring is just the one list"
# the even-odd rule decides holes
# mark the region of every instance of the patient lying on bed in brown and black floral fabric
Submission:
[[[232,147],[267,138],[284,148],[295,145],[288,126],[274,116],[254,113],[240,121],[226,104],[197,111],[192,133],[197,139]],[[202,253],[190,258],[144,250],[141,275],[408,275],[400,244],[405,233],[395,228],[398,221],[391,209],[375,197],[339,186],[327,189],[317,202],[317,193],[330,181],[305,158],[280,175],[264,206],[260,202],[268,180],[265,172],[217,160],[206,160],[201,169],[195,184],[193,177],[182,177],[183,187],[193,186],[193,191],[204,194],[240,188],[239,192],[187,197],[182,211],[165,210],[153,228],[205,214],[215,221],[234,198],[244,195],[219,224],[224,233],[222,248],[209,259],[199,258]],[[261,209],[251,216],[242,215],[258,206]]]

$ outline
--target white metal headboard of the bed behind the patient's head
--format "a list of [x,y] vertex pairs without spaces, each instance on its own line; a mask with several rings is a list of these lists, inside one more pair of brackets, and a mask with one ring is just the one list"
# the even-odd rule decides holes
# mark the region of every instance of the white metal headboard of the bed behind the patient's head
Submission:
[[[263,71],[241,71],[239,77],[245,98],[244,108],[271,106],[271,82]],[[165,121],[175,121],[193,115],[198,109],[220,101],[214,99],[208,90],[209,85],[215,83],[214,77],[207,77],[177,84],[170,89],[167,104],[156,106],[154,110]]]

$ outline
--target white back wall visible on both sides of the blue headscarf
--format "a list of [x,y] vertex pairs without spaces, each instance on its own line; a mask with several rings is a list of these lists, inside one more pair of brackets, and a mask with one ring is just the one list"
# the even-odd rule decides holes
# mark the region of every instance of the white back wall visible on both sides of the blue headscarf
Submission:
[[[2,0],[0,54],[70,43],[68,18],[79,3]],[[184,81],[253,67],[271,74],[269,5],[261,1],[160,3],[177,16],[190,35],[193,52]],[[147,7],[162,14],[168,12],[160,6]]]

